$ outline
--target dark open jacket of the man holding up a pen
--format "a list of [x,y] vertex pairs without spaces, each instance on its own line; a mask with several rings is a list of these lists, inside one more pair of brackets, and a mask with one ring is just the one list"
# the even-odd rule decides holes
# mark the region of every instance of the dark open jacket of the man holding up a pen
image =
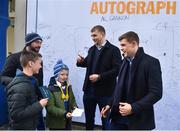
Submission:
[[[89,75],[92,63],[93,55],[97,47],[94,45],[88,51],[88,56],[85,58],[84,62],[81,64],[77,63],[77,66],[86,67],[86,76],[83,85],[83,91],[86,92],[90,85]],[[116,46],[110,44],[109,41],[106,42],[103,47],[99,59],[97,61],[95,74],[100,74],[100,80],[94,83],[94,93],[97,96],[111,96],[115,84],[118,70],[121,64],[120,50]]]

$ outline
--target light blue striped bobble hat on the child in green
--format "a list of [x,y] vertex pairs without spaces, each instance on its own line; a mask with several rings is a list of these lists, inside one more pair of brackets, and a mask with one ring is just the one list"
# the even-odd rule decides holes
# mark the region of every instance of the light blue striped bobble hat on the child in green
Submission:
[[56,62],[56,65],[54,66],[54,76],[55,76],[55,77],[58,77],[59,72],[60,72],[61,70],[63,70],[63,69],[69,70],[69,68],[67,67],[67,65],[65,65],[65,64],[62,62],[62,60],[60,59],[60,60],[58,60],[58,61]]

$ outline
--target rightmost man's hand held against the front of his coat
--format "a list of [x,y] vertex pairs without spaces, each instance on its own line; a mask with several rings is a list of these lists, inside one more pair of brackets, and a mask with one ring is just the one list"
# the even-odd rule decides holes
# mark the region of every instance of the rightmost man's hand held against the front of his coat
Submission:
[[119,113],[122,116],[128,116],[128,115],[132,114],[132,107],[131,107],[131,105],[128,104],[128,103],[120,102],[119,103]]

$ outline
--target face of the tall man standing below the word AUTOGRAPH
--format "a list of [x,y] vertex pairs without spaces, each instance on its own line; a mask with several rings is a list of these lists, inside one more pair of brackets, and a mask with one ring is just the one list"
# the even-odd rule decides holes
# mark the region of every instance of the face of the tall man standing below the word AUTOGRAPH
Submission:
[[94,32],[91,32],[91,37],[95,44],[100,45],[104,40],[105,34],[103,32],[95,30]]

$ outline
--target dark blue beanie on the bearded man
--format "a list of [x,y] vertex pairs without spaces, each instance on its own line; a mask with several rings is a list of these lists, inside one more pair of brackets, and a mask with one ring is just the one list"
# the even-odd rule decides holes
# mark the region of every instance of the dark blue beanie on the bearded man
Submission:
[[41,40],[42,38],[39,34],[37,33],[29,33],[26,35],[25,37],[25,42],[26,42],[26,46],[29,46],[32,42],[36,41],[36,40]]

